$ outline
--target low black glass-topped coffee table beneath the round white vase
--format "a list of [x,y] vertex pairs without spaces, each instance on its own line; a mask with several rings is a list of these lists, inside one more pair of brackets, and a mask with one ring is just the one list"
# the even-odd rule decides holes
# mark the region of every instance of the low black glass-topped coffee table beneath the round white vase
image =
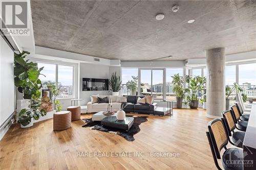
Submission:
[[134,117],[124,117],[123,120],[118,120],[116,116],[108,116],[100,121],[100,124],[103,126],[122,129],[126,131],[130,130],[130,128],[133,126],[133,123]]

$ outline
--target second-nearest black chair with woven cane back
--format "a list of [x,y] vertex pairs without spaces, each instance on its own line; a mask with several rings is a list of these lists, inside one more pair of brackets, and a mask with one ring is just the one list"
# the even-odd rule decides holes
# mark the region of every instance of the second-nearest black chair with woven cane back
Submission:
[[233,115],[229,110],[222,112],[222,116],[223,116],[222,122],[225,125],[226,132],[228,136],[232,137],[232,141],[230,140],[229,137],[228,137],[228,141],[236,147],[243,148],[245,132],[242,132],[242,131],[234,132],[234,130],[236,129],[236,124],[234,123]]

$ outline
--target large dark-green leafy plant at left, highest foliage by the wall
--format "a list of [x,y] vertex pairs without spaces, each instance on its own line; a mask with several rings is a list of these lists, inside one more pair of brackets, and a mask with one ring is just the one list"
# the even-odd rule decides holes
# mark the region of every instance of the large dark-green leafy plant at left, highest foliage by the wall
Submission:
[[42,84],[38,77],[44,67],[38,69],[37,63],[25,60],[28,54],[26,51],[14,53],[14,84],[23,93],[24,99],[32,99],[32,96],[39,98]]

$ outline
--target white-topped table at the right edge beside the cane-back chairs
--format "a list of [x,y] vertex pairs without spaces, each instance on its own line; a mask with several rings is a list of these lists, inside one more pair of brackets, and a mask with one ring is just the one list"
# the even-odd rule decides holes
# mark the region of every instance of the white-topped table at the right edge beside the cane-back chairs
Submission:
[[256,102],[251,105],[243,142],[243,169],[256,169]]

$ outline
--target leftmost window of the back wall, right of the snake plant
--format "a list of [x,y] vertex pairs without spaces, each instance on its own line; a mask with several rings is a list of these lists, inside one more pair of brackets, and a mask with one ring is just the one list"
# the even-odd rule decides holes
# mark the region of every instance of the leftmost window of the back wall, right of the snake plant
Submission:
[[123,95],[133,95],[132,90],[126,86],[128,82],[131,86],[136,84],[137,89],[134,91],[134,95],[136,95],[138,91],[138,68],[122,68]]

